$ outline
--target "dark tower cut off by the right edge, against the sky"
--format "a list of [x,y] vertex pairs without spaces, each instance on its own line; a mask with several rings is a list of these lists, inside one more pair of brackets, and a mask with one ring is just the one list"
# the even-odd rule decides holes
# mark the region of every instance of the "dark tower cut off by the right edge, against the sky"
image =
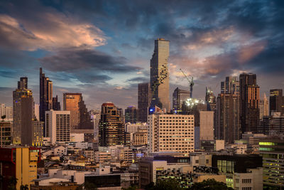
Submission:
[[271,112],[282,112],[282,102],[283,91],[282,89],[271,89],[271,94],[269,96],[269,107]]

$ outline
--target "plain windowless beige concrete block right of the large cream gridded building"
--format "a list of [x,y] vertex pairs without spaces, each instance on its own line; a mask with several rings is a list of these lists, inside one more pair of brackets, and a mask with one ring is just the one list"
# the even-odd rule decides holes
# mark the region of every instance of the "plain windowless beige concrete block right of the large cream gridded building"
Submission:
[[200,140],[214,139],[214,112],[200,111]]

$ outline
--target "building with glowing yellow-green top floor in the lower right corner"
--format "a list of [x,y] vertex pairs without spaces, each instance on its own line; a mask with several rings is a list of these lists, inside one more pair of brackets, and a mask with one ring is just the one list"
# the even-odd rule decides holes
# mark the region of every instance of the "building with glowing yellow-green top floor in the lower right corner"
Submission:
[[284,187],[284,139],[271,137],[259,142],[263,157],[263,186],[283,189]]

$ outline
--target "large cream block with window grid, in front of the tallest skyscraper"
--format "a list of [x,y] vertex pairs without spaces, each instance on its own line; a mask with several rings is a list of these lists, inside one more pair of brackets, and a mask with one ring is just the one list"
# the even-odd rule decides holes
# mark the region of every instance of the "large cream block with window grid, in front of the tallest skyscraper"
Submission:
[[148,115],[148,152],[194,152],[193,115]]

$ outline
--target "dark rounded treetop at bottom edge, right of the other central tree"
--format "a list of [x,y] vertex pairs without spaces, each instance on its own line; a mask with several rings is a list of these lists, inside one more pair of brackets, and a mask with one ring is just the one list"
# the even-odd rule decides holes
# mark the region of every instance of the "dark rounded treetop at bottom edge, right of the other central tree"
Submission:
[[225,183],[216,181],[215,179],[207,179],[202,182],[196,182],[192,184],[189,190],[200,190],[200,189],[219,189],[219,190],[233,190],[231,187],[226,186]]

